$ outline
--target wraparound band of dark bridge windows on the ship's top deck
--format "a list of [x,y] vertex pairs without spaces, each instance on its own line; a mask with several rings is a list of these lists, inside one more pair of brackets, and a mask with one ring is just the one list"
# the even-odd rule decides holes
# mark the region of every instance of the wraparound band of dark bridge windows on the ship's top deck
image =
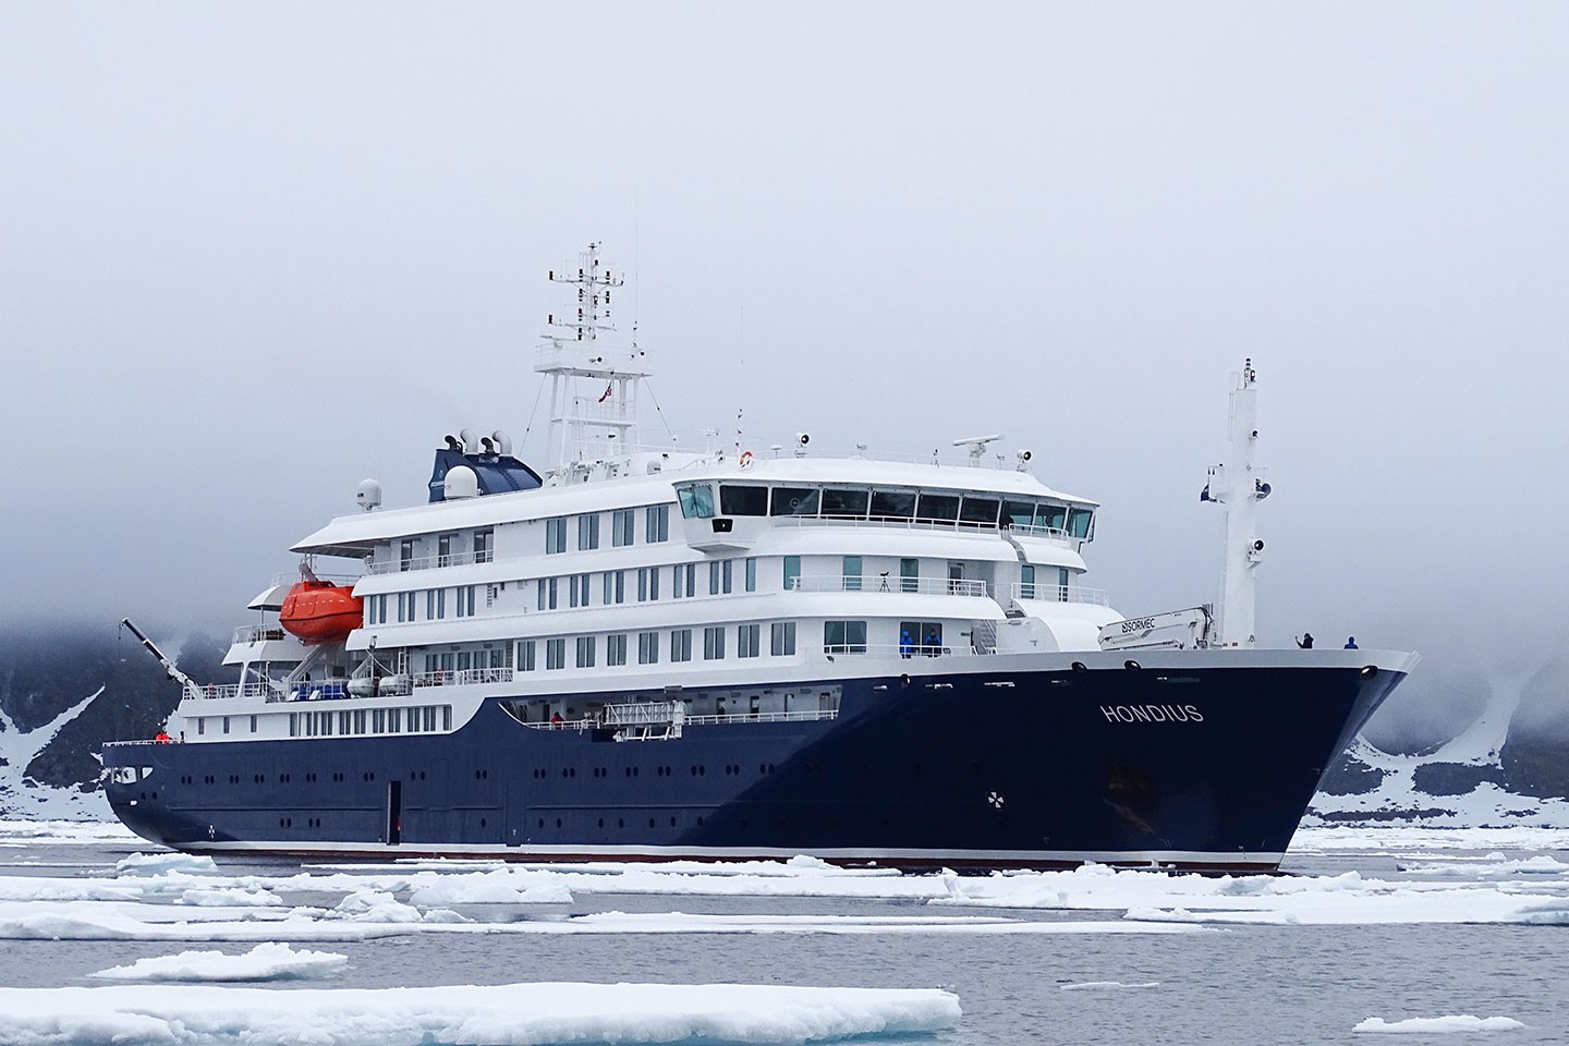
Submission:
[[676,489],[687,519],[719,516],[811,516],[1045,530],[1087,541],[1094,510],[1034,497],[965,494],[960,491],[877,489],[850,486],[750,486],[692,483]]

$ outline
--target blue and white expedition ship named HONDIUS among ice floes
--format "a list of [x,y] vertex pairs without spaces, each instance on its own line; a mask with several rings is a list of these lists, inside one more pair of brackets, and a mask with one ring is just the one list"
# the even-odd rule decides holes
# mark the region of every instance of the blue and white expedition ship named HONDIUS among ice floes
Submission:
[[1202,494],[1227,518],[1218,613],[1128,616],[1083,583],[1098,505],[999,436],[954,461],[640,444],[620,279],[598,246],[551,279],[576,296],[535,362],[551,467],[464,430],[428,502],[361,485],[251,601],[238,679],[163,659],[165,732],[104,746],[133,831],[215,855],[1272,870],[1415,665],[1257,646],[1250,362]]

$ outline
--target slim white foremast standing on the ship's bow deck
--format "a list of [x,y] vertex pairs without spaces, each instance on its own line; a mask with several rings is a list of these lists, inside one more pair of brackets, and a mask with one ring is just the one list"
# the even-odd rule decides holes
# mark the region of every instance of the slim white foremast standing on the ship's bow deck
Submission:
[[1221,597],[1221,645],[1254,646],[1254,569],[1263,558],[1265,543],[1254,532],[1258,502],[1269,497],[1269,485],[1255,461],[1258,449],[1258,375],[1254,361],[1243,361],[1243,372],[1232,375],[1230,453],[1210,469],[1210,485],[1200,500],[1225,505],[1225,591]]

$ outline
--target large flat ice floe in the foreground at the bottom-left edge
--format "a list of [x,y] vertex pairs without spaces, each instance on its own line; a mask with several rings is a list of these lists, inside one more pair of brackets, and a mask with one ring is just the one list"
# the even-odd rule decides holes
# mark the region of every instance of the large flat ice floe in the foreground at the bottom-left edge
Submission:
[[438,988],[0,988],[8,1046],[825,1043],[954,1027],[938,990],[522,983]]

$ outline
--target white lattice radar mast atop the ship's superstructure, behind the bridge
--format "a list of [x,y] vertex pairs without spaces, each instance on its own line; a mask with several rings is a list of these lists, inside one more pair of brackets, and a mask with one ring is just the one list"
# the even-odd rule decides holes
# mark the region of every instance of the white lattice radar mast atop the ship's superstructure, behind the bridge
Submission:
[[577,301],[566,306],[544,336],[533,369],[551,376],[551,431],[546,456],[557,474],[571,466],[618,458],[632,452],[637,433],[637,386],[648,376],[643,353],[604,348],[601,331],[610,323],[610,292],[624,281],[599,260],[599,245],[590,243],[551,282],[571,284]]

